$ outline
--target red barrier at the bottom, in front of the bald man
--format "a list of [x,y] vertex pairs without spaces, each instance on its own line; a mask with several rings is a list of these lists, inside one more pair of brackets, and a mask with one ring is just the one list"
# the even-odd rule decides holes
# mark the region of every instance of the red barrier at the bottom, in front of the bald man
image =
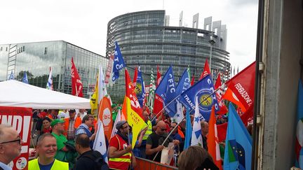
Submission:
[[146,160],[141,157],[136,157],[137,165],[134,170],[174,170],[177,167],[171,167],[166,164],[161,164],[159,162],[154,162],[151,160]]

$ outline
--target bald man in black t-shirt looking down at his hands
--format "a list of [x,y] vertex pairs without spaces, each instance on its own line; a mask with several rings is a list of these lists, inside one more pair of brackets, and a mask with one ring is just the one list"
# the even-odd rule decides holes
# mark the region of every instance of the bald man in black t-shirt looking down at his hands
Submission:
[[163,122],[163,120],[160,120],[156,125],[156,131],[147,137],[147,145],[145,150],[147,159],[153,160],[156,153],[159,152],[154,161],[161,162],[161,151],[163,150],[164,146],[167,147],[168,143],[170,142],[173,142],[175,145],[179,145],[179,141],[173,140],[172,136],[169,136],[166,143],[163,144],[163,141],[167,136],[168,134],[166,133],[166,123]]

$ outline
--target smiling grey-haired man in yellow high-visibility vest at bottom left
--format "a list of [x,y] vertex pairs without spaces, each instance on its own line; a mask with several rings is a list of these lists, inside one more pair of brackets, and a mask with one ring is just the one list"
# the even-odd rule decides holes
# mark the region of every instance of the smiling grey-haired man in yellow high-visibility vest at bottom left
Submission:
[[53,134],[43,134],[40,136],[37,146],[38,158],[29,161],[30,170],[68,170],[69,164],[55,159],[57,152],[57,142]]

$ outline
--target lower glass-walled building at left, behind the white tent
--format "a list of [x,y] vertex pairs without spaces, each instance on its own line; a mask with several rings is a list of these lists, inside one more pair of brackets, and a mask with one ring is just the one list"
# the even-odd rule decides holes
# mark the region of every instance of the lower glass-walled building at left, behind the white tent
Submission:
[[105,70],[108,59],[66,41],[0,45],[0,81],[7,80],[12,72],[21,80],[26,71],[29,84],[45,88],[51,67],[53,89],[71,94],[72,57],[83,83],[83,97],[90,98],[99,64]]

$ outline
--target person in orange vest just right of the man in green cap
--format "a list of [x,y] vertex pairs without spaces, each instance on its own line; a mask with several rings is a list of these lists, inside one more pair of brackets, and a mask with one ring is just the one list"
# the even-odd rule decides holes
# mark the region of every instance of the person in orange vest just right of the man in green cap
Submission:
[[75,110],[69,110],[69,118],[65,118],[65,136],[68,141],[74,141],[76,129],[81,125],[81,118],[76,117]]

